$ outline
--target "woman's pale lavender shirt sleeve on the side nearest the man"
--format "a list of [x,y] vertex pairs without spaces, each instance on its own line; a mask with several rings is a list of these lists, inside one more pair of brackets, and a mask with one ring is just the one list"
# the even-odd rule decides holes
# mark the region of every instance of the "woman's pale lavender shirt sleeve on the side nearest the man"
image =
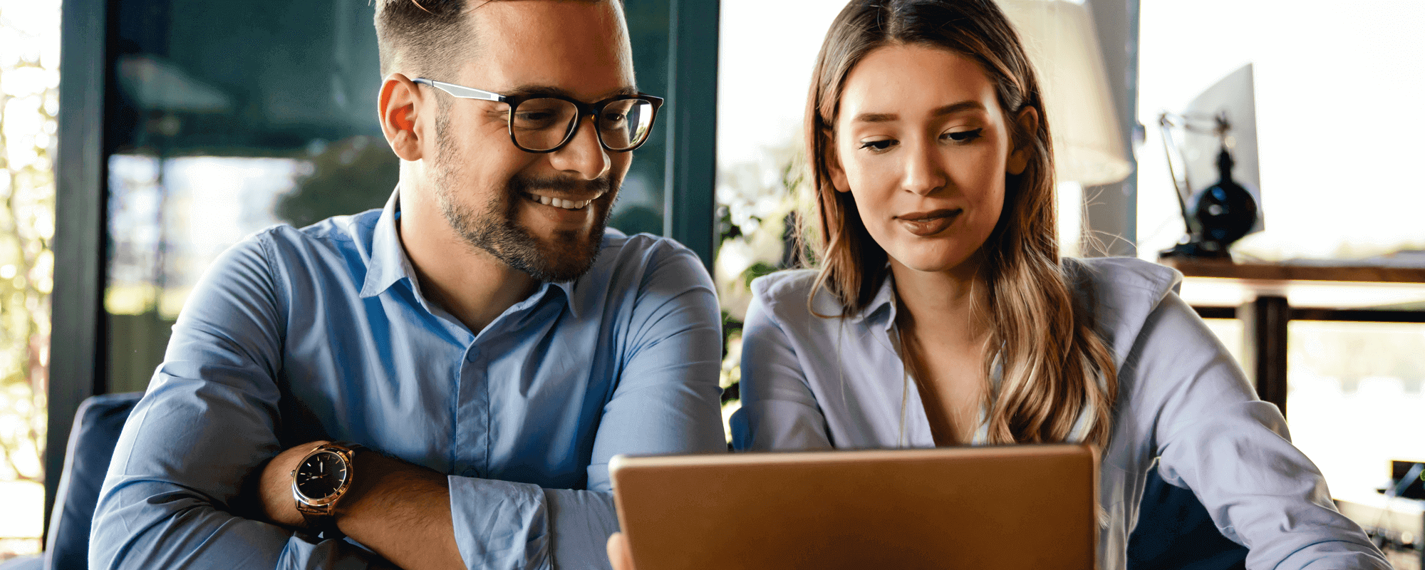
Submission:
[[752,284],[742,322],[742,408],[732,413],[732,447],[799,450],[831,447],[826,419],[782,325],[767,306],[767,285]]

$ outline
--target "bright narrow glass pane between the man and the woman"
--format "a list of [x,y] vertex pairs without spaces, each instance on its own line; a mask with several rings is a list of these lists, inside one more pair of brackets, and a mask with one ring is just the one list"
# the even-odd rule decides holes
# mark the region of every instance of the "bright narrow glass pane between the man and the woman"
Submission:
[[[741,322],[754,276],[785,268],[795,249],[802,114],[817,51],[844,1],[722,0],[717,94],[717,252],[712,279],[727,314],[722,388],[741,378]],[[795,21],[797,26],[787,26]],[[757,41],[747,41],[757,38]],[[775,56],[775,64],[768,54]],[[809,198],[801,198],[809,204]],[[791,228],[789,228],[791,225]],[[737,410],[735,392],[722,409]],[[731,433],[728,433],[731,440]]]

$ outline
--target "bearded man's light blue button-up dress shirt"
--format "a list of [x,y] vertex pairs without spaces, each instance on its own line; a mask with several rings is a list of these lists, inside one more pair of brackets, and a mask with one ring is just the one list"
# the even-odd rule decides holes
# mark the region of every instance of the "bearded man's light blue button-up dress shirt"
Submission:
[[242,517],[258,467],[315,439],[447,473],[470,569],[607,567],[613,455],[725,452],[721,318],[697,255],[610,229],[589,274],[476,333],[422,296],[396,204],[275,227],[214,262],[124,426],[91,569],[390,567]]

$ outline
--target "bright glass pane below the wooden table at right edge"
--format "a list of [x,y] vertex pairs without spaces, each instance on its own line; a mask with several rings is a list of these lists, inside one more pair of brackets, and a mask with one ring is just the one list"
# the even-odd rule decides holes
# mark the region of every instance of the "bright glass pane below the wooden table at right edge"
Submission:
[[1425,323],[1294,321],[1291,439],[1337,499],[1374,504],[1391,459],[1425,460]]

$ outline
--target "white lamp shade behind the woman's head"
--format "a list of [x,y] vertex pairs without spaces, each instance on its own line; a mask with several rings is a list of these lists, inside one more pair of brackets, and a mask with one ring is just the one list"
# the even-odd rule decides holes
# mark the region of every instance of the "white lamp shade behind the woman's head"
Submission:
[[1087,7],[1067,0],[996,3],[1039,73],[1059,181],[1100,185],[1127,178],[1133,164]]

